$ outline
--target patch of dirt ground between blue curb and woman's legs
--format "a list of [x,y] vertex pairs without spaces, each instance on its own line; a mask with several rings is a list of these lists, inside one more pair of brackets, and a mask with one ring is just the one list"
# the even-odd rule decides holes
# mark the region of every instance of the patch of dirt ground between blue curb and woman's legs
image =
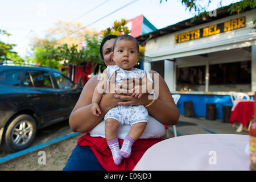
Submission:
[[[79,134],[0,164],[0,171],[62,171],[75,148]],[[42,158],[39,151],[44,151]],[[45,164],[44,164],[45,162]],[[39,164],[41,163],[41,164]]]

